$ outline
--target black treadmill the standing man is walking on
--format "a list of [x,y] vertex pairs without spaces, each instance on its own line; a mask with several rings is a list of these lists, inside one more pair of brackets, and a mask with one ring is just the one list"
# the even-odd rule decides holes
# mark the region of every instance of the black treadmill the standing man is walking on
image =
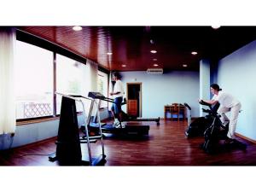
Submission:
[[[99,99],[102,101],[113,103],[113,99],[105,97],[99,92],[89,92],[88,97],[90,97],[93,101],[95,101],[96,99]],[[90,107],[90,117],[92,116],[91,115],[92,109],[93,109],[93,106]],[[102,124],[101,120],[99,118],[97,119],[98,119],[97,122],[90,121],[88,123],[88,127],[92,134],[96,134],[97,131],[101,129],[102,133],[122,134],[122,135],[129,135],[129,136],[145,136],[145,135],[148,135],[148,131],[150,128],[149,125],[142,125],[134,122],[125,122],[124,126],[121,125],[121,128],[115,128],[112,124]]]

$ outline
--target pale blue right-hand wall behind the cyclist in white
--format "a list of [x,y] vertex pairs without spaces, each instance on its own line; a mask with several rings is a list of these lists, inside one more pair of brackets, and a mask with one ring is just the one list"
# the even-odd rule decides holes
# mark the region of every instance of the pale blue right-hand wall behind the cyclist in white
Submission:
[[256,140],[256,41],[218,62],[218,84],[241,102],[236,132]]

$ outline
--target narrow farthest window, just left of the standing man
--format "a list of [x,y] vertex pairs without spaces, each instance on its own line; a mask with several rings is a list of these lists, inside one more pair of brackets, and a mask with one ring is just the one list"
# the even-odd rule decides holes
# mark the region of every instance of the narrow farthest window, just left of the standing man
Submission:
[[[108,74],[98,71],[97,89],[103,96],[108,97]],[[108,108],[108,102],[101,101],[100,108]]]

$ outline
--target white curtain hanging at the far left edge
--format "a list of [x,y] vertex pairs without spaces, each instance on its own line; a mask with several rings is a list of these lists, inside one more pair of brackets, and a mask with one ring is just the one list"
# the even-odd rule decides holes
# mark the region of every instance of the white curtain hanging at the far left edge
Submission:
[[0,135],[15,133],[14,27],[0,27]]

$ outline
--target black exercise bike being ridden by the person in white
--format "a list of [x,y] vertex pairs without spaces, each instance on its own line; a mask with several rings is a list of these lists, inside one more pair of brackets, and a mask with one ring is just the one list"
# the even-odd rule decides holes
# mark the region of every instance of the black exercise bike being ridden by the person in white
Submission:
[[212,107],[207,102],[200,102],[201,105],[208,106],[209,109],[202,109],[204,113],[208,113],[213,119],[212,124],[207,127],[204,132],[205,142],[201,144],[201,148],[209,154],[219,152],[220,149],[231,150],[231,149],[242,149],[247,148],[247,144],[241,143],[240,141],[233,139],[230,143],[220,143],[221,140],[226,140],[227,133],[229,131],[229,123],[224,125],[220,118],[220,115],[212,110]]

